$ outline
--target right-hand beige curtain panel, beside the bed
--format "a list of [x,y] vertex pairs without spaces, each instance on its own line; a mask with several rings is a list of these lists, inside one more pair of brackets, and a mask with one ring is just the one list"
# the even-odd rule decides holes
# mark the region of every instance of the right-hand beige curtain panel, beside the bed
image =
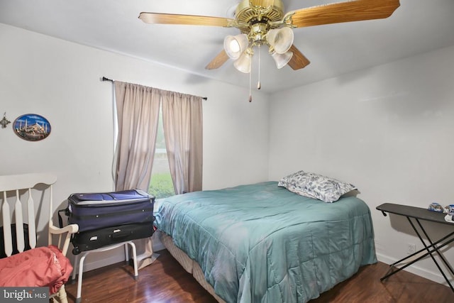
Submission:
[[162,92],[162,123],[176,194],[201,190],[202,99]]

